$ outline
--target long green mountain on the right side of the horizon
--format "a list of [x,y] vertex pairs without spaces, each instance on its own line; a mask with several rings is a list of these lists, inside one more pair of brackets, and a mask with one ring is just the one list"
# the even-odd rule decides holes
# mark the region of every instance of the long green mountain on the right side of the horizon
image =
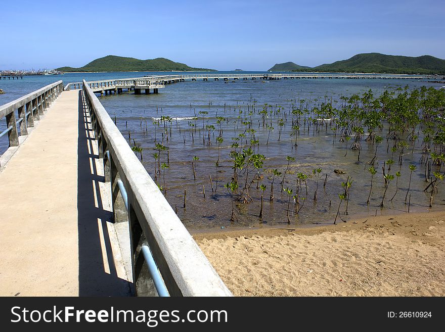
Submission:
[[[270,70],[278,71],[277,69],[274,69],[276,66],[277,65]],[[445,60],[428,55],[421,57],[404,57],[380,53],[362,53],[355,55],[350,59],[336,61],[331,64],[323,64],[313,68],[295,68],[291,70],[347,73],[445,74]]]

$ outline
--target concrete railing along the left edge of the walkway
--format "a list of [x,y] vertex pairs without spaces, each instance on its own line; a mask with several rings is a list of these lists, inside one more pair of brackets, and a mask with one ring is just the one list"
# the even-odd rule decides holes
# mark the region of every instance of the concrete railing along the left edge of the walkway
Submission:
[[34,120],[40,119],[63,90],[62,81],[57,81],[0,106],[0,119],[6,118],[6,130],[0,132],[0,137],[8,134],[9,147],[19,146],[20,136],[28,135],[28,128],[34,127]]

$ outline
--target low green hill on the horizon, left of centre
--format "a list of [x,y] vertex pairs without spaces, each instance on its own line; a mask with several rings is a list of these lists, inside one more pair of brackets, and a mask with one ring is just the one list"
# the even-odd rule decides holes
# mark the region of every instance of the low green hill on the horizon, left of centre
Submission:
[[193,68],[186,64],[173,62],[165,58],[139,60],[117,56],[106,56],[96,59],[80,68],[61,67],[63,72],[110,72],[110,71],[213,71],[214,69]]

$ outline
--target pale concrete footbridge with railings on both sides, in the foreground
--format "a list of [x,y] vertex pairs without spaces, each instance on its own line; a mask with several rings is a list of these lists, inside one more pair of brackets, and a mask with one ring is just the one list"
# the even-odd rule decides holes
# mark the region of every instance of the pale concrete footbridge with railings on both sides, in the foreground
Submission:
[[94,84],[58,81],[0,106],[0,119],[1,296],[232,295]]

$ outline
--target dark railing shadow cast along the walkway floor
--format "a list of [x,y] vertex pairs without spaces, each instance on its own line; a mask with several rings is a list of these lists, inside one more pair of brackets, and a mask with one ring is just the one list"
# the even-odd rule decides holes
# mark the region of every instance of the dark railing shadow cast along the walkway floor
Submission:
[[[130,283],[118,277],[108,228],[112,213],[104,210],[94,154],[94,131],[79,91],[77,148],[77,210],[79,241],[79,296],[129,296]],[[97,204],[95,203],[95,198]],[[114,231],[114,230],[113,230]]]

